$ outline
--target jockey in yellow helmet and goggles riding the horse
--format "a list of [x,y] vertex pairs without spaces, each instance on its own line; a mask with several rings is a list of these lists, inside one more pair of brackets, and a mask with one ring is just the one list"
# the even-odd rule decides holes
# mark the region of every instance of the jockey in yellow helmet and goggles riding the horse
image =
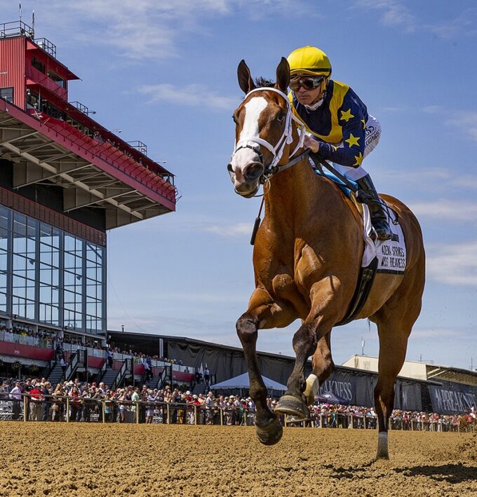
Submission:
[[379,142],[381,125],[348,85],[330,79],[331,64],[319,48],[305,46],[288,55],[293,114],[305,125],[304,146],[330,160],[342,175],[356,182],[373,200],[369,203],[378,240],[392,236],[387,215],[363,158]]

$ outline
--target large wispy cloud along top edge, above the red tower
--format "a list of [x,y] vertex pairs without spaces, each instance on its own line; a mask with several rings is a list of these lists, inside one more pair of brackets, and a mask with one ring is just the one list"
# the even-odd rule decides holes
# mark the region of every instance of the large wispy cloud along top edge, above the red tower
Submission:
[[[23,2],[24,10],[32,1]],[[245,15],[251,21],[276,13],[304,10],[304,3],[290,0],[76,0],[48,2],[42,20],[70,43],[117,49],[123,60],[164,60],[180,57],[179,42],[187,34],[208,36],[210,20]]]

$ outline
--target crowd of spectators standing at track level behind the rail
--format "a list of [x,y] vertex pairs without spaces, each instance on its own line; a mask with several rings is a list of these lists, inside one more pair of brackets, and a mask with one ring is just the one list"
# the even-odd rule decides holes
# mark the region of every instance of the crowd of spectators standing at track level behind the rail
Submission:
[[[255,404],[250,397],[214,395],[171,388],[151,389],[126,386],[110,390],[105,383],[86,383],[78,379],[52,386],[46,379],[18,381],[5,379],[0,384],[0,406],[11,411],[13,419],[22,419],[23,393],[27,396],[30,421],[104,421],[106,423],[177,423],[253,425]],[[267,399],[270,409],[276,400]],[[3,404],[3,405],[1,405]],[[68,411],[67,411],[68,409]],[[104,414],[103,414],[104,411]],[[1,412],[1,409],[0,409]],[[464,426],[477,429],[476,407],[461,415],[443,415],[394,410],[390,423],[396,430],[458,430]],[[321,403],[311,407],[307,421],[293,418],[283,424],[312,428],[376,428],[372,407]]]

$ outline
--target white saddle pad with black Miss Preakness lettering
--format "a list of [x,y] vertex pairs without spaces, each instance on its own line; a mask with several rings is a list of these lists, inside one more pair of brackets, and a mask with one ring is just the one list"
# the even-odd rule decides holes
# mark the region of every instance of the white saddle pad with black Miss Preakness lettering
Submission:
[[[392,212],[392,211],[390,211]],[[361,266],[366,267],[372,259],[377,257],[377,273],[404,274],[406,265],[405,239],[401,224],[394,224],[394,219],[389,218],[389,227],[394,233],[391,240],[377,240],[374,243],[370,234],[372,233],[371,219],[368,205],[363,204],[363,225],[365,250]]]

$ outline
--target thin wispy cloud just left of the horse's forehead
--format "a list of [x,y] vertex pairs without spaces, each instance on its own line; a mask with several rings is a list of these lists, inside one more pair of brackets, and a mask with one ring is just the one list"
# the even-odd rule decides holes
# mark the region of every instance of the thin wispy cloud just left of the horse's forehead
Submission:
[[152,104],[156,102],[170,102],[173,104],[187,105],[198,107],[206,105],[214,109],[230,110],[236,107],[239,100],[238,97],[223,97],[216,95],[202,85],[187,85],[178,88],[177,85],[170,83],[159,83],[157,85],[143,85],[138,88],[142,95],[148,95],[149,101]]

